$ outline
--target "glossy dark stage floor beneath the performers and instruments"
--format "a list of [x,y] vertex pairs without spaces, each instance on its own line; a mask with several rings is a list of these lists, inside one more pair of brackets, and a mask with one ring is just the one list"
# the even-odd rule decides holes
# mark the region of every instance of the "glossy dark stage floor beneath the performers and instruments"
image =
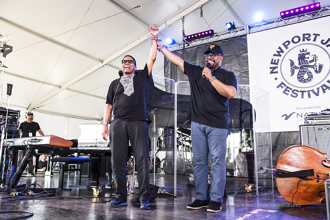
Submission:
[[[129,181],[132,183],[132,176]],[[44,188],[56,188],[58,186],[58,173],[53,176],[46,176],[38,173],[35,177],[22,175],[23,183],[29,185],[37,183]],[[7,219],[9,216],[24,216],[28,213],[17,211],[33,212],[33,216],[27,218],[31,220],[91,220],[91,219],[327,219],[325,201],[321,205],[305,205],[301,207],[288,207],[286,202],[275,189],[274,193],[267,194],[267,191],[260,192],[259,197],[244,193],[245,190],[237,190],[238,187],[244,188],[247,179],[227,178],[227,198],[222,203],[221,212],[208,212],[206,208],[187,209],[186,205],[195,200],[194,185],[188,184],[187,176],[177,176],[177,197],[174,192],[173,175],[157,173],[156,185],[163,193],[158,194],[157,198],[150,202],[150,210],[140,210],[139,203],[132,203],[131,196],[128,197],[128,205],[117,208],[110,207],[110,201],[114,198],[115,189],[104,188],[107,183],[107,176],[100,177],[102,193],[98,197],[93,196],[91,188],[72,188],[72,191],[63,191],[62,195],[45,197],[42,199],[19,199],[0,201],[0,219]],[[136,175],[137,178],[137,175]],[[91,178],[82,177],[82,185],[90,185]],[[75,173],[64,174],[64,188],[75,185],[77,177]],[[150,183],[153,184],[153,174],[150,173]],[[4,186],[4,183],[1,184]],[[237,187],[237,188],[236,188]],[[37,187],[40,188],[40,187]],[[235,190],[236,188],[236,190]],[[130,189],[129,189],[130,190]],[[266,189],[267,190],[267,189]],[[1,198],[8,197],[7,193],[2,193]],[[12,197],[15,199],[15,197]],[[4,211],[8,211],[4,213]]]

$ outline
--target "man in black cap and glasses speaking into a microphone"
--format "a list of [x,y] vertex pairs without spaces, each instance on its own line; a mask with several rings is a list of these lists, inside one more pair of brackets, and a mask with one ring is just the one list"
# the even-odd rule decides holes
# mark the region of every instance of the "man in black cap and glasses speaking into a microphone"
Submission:
[[[158,40],[157,49],[188,76],[190,103],[187,120],[191,121],[196,200],[189,209],[207,207],[221,211],[226,184],[226,139],[228,136],[228,99],[235,96],[237,80],[233,72],[221,68],[223,50],[211,44],[204,52],[207,67],[192,65],[171,53]],[[212,163],[211,189],[208,191],[208,157]]]

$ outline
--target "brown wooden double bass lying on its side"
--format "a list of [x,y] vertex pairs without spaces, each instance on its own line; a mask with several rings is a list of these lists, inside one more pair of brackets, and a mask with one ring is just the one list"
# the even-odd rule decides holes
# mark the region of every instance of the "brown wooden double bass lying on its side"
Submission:
[[292,204],[321,204],[324,182],[329,179],[330,162],[314,148],[294,145],[285,149],[273,171],[283,199]]

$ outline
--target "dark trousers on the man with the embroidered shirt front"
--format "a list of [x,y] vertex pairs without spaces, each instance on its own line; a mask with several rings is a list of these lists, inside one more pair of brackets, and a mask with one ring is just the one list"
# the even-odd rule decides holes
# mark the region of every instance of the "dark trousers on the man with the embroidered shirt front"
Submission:
[[116,198],[127,200],[127,171],[126,158],[128,154],[128,140],[131,141],[139,181],[139,199],[149,200],[149,149],[148,149],[147,121],[123,121],[115,119],[111,122],[109,134],[111,136],[111,164],[116,185]]

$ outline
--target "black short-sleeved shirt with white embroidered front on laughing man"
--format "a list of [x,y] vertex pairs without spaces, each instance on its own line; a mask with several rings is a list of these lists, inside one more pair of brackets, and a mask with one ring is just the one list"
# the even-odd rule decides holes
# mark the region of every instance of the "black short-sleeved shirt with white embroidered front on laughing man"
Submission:
[[[113,111],[115,119],[125,121],[148,121],[149,124],[151,123],[146,101],[147,85],[150,75],[148,75],[147,64],[144,70],[135,73],[133,77],[134,92],[130,96],[124,94],[124,87],[119,81],[120,78],[114,80],[110,84],[106,103],[111,105],[114,103]],[[115,102],[113,102],[114,98]]]

